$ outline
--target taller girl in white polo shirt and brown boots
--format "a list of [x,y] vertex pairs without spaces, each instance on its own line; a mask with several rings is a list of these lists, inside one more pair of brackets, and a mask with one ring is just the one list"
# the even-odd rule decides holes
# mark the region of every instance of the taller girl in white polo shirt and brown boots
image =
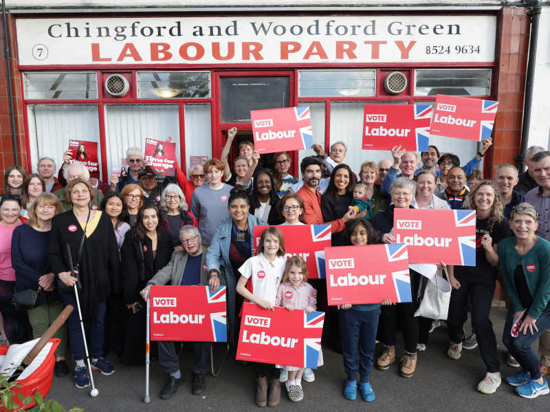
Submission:
[[[239,241],[239,238],[237,238]],[[277,227],[267,227],[260,238],[258,255],[248,259],[241,268],[241,278],[236,284],[236,291],[245,298],[266,310],[274,310],[277,288],[285,271],[285,239]],[[250,281],[249,281],[250,279]],[[267,379],[264,363],[254,362],[257,392],[256,405],[275,407],[281,401],[281,369],[267,365],[271,374],[270,397],[267,398]]]

